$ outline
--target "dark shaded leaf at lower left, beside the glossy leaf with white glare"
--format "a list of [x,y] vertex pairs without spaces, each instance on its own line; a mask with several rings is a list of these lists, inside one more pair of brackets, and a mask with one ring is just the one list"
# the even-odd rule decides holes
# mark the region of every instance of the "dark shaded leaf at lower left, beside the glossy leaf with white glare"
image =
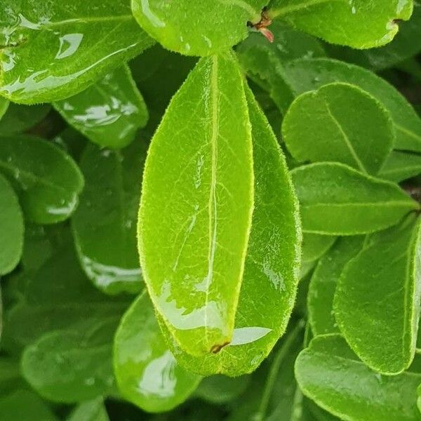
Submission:
[[36,392],[55,402],[74,403],[114,394],[112,337],[118,319],[91,329],[55,330],[22,354],[22,375]]

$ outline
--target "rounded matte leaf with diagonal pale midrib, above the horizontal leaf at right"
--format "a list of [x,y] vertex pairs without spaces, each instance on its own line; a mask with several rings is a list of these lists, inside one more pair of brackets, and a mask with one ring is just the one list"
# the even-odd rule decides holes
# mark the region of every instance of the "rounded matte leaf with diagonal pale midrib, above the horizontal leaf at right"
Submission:
[[282,135],[298,161],[338,161],[373,175],[395,138],[386,109],[348,83],[330,83],[296,98],[283,119]]

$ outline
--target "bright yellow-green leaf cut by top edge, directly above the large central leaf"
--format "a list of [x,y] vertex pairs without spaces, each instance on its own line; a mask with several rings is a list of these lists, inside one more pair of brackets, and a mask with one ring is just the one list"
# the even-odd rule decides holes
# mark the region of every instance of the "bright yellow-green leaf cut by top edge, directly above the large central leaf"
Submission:
[[186,55],[226,51],[258,23],[267,0],[132,0],[139,25],[165,48]]

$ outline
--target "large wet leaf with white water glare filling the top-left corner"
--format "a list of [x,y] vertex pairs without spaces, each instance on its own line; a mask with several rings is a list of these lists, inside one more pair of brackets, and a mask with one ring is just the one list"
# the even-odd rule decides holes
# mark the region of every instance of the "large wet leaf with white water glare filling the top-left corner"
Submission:
[[0,94],[24,104],[83,91],[153,44],[125,0],[17,0],[0,22]]

